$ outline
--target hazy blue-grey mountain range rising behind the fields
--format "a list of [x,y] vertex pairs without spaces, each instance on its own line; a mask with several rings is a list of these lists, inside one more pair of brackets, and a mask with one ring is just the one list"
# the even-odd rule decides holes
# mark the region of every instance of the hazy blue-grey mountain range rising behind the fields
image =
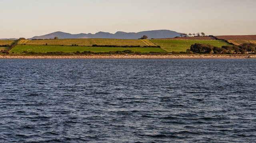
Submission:
[[46,34],[43,36],[34,36],[29,39],[54,39],[54,37],[58,37],[59,39],[85,39],[85,38],[109,38],[109,39],[138,39],[142,36],[148,36],[148,39],[151,38],[174,38],[176,36],[180,36],[180,33],[171,31],[171,30],[152,30],[152,31],[143,31],[143,32],[116,32],[115,34],[111,34],[108,32],[98,32],[96,34],[70,34],[64,32],[54,32],[50,34]]

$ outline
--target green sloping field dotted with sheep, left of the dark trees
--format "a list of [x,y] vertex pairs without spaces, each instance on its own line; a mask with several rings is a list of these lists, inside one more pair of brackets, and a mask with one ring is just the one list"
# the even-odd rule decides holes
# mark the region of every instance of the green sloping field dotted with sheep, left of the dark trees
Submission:
[[212,46],[221,47],[230,45],[224,41],[219,40],[159,40],[152,39],[150,40],[154,44],[161,46],[163,50],[168,52],[186,52],[187,49],[190,49],[190,46],[195,43],[199,44],[210,44]]

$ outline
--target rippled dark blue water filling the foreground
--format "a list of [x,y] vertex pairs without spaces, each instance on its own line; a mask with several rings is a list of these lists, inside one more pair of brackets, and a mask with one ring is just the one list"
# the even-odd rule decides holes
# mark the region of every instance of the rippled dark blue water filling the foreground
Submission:
[[0,142],[255,142],[255,63],[2,59]]

